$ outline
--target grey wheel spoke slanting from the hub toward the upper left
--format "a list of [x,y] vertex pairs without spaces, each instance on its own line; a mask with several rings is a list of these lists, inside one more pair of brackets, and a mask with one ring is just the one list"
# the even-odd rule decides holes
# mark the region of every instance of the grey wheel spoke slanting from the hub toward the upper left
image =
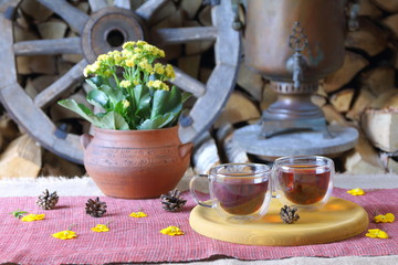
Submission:
[[63,20],[65,20],[71,28],[76,32],[83,32],[83,28],[88,20],[88,15],[72,7],[65,0],[38,0],[40,3],[57,13]]

